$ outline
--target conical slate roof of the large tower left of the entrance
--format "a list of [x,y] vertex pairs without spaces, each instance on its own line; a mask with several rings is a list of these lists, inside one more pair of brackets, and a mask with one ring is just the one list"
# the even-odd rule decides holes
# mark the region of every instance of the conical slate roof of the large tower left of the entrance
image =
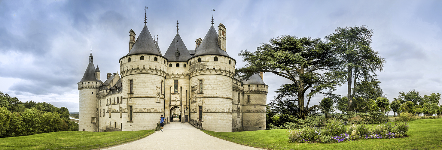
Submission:
[[[162,56],[160,50],[156,47],[155,41],[153,41],[152,35],[150,35],[147,26],[144,26],[143,30],[139,34],[137,41],[132,46],[132,49],[126,56],[137,54],[151,54],[156,56]],[[123,56],[122,58],[126,57]],[[121,59],[120,59],[121,60]]]

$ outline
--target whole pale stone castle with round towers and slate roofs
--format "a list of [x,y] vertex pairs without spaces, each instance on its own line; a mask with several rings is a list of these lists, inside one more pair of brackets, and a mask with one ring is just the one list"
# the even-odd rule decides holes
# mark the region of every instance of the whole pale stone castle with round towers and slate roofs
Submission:
[[248,80],[235,76],[236,60],[227,54],[225,35],[225,26],[220,23],[217,32],[212,21],[195,50],[187,50],[177,26],[162,55],[145,21],[138,38],[129,32],[129,53],[119,60],[119,74],[107,73],[104,82],[91,53],[78,82],[79,131],[155,129],[160,115],[172,114],[210,131],[265,129],[263,74]]

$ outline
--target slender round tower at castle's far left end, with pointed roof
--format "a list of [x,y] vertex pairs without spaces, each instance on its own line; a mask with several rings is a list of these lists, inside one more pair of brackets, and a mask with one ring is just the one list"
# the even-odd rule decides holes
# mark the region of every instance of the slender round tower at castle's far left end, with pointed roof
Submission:
[[[97,79],[99,69],[95,69],[94,56],[89,56],[89,64],[78,86],[78,131],[98,131],[97,94],[101,82]],[[98,72],[97,72],[98,71]]]

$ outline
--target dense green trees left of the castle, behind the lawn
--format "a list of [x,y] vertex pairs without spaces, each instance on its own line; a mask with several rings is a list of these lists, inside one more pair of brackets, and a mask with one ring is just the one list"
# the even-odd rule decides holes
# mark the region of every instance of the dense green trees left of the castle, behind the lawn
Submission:
[[0,137],[34,135],[56,131],[78,131],[66,107],[46,102],[21,102],[0,91]]

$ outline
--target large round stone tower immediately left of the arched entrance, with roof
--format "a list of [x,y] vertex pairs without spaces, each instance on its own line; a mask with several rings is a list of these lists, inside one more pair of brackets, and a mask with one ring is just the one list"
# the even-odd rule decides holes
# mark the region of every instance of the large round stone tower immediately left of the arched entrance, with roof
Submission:
[[[168,60],[161,55],[145,24],[126,56],[120,60],[123,131],[155,129],[164,115],[164,80]],[[112,108],[113,109],[113,108]]]

